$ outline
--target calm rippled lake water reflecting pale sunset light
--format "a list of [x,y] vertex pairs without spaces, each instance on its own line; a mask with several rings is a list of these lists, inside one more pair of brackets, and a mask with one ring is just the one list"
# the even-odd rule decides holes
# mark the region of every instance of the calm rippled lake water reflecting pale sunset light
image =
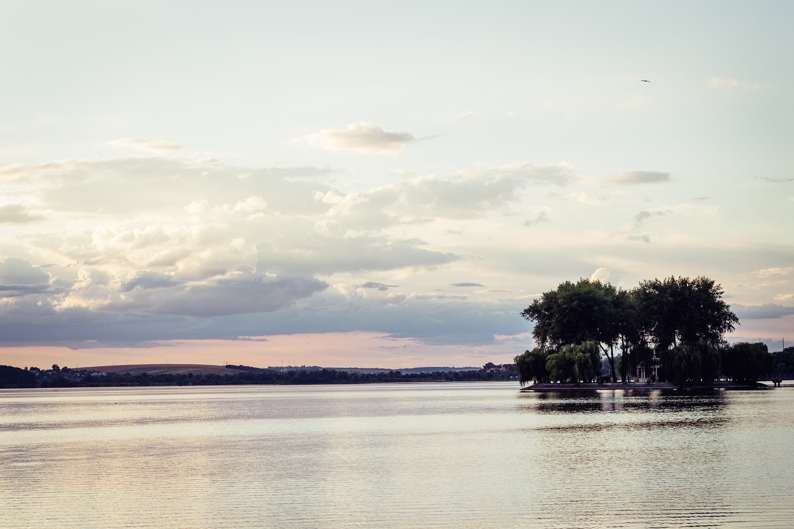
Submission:
[[794,527],[794,388],[0,390],[0,527]]

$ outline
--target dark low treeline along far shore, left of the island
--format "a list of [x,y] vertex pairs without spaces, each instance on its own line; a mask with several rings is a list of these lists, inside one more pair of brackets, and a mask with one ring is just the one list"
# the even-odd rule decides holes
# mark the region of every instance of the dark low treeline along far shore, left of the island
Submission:
[[[489,362],[487,366],[494,366]],[[226,366],[228,374],[97,374],[86,370],[39,370],[0,366],[0,388],[64,388],[144,385],[244,385],[244,384],[372,384],[377,382],[505,381],[515,378],[512,364],[503,370],[401,373],[349,373],[343,370],[271,370],[250,366]]]

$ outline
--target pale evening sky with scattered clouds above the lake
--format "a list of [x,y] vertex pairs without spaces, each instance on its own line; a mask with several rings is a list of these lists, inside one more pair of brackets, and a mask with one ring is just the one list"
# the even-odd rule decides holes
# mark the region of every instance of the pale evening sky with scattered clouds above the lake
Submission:
[[792,17],[4,2],[0,363],[511,362],[560,282],[671,275],[780,350]]

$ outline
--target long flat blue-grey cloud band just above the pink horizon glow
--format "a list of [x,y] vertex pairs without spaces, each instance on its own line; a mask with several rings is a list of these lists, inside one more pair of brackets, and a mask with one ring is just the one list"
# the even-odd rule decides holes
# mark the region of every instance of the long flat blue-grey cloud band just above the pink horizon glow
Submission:
[[[222,307],[233,309],[233,297],[245,295],[249,286],[222,298]],[[223,285],[222,289],[225,288]],[[215,314],[225,311],[206,305],[192,309],[187,306],[183,311],[187,314],[175,314],[130,312],[121,307],[115,311],[80,307],[54,310],[50,305],[17,304],[13,309],[3,307],[6,310],[0,318],[0,343],[71,343],[79,347],[81,340],[129,343],[360,331],[382,332],[392,338],[418,339],[429,344],[476,346],[494,343],[494,334],[515,335],[528,330],[526,321],[516,316],[524,308],[522,301],[475,302],[466,296],[444,294],[399,296],[401,301],[397,301],[399,297],[345,297],[334,289],[325,289],[271,312],[229,314]],[[191,301],[201,300],[191,296],[189,300],[179,300],[179,306],[189,305]]]

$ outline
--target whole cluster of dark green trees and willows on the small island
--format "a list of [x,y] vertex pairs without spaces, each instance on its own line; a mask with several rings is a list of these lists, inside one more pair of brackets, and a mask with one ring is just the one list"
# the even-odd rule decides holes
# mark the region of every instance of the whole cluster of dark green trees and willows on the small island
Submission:
[[[711,278],[670,277],[616,289],[598,280],[563,282],[521,315],[534,322],[538,347],[515,357],[521,385],[530,381],[627,381],[637,366],[661,360],[660,381],[677,384],[726,378],[757,381],[775,370],[764,343],[724,339],[739,323]],[[785,351],[784,351],[785,352]]]

